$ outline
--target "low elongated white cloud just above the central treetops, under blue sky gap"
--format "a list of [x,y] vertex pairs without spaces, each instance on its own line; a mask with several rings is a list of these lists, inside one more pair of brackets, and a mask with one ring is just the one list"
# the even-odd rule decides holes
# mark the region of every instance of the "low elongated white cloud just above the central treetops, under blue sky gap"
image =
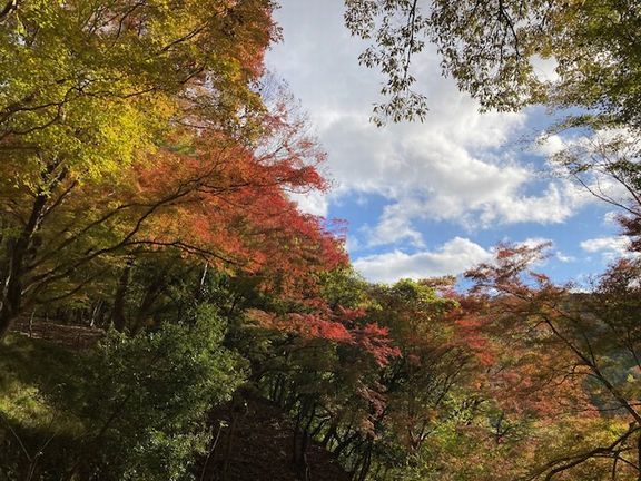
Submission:
[[401,251],[361,257],[354,267],[367,279],[392,283],[400,278],[424,278],[461,274],[490,261],[492,253],[466,238],[455,237],[434,251],[406,254]]

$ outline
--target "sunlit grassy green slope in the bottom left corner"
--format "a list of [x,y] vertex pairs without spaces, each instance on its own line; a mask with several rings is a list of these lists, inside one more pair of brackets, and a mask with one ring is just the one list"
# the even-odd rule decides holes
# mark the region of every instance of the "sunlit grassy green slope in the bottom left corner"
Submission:
[[85,360],[81,353],[21,335],[0,344],[0,479],[24,479],[33,468],[33,479],[47,471],[51,475],[41,479],[59,479],[55,474],[65,467],[63,453],[73,449],[83,426],[47,393],[73,380]]

